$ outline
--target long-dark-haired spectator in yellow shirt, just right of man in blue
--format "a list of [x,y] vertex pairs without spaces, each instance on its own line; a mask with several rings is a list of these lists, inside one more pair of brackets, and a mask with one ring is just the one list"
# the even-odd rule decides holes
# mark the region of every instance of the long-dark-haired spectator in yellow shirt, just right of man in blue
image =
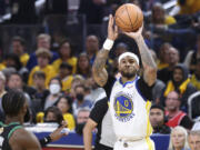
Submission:
[[59,54],[60,54],[60,58],[57,59],[52,63],[56,72],[59,72],[59,67],[60,67],[60,64],[62,62],[67,62],[70,66],[72,66],[72,73],[76,73],[76,70],[77,70],[77,58],[72,56],[71,46],[70,46],[70,42],[68,40],[64,40],[63,42],[61,42],[60,49],[59,49]]

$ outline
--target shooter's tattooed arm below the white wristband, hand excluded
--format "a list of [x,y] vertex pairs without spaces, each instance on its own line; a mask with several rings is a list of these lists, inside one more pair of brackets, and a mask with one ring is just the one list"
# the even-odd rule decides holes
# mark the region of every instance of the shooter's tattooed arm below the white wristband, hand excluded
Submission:
[[109,57],[108,50],[100,50],[92,66],[93,78],[96,82],[101,87],[106,84],[107,79],[108,79],[108,73],[107,73],[107,70],[104,69],[108,57]]

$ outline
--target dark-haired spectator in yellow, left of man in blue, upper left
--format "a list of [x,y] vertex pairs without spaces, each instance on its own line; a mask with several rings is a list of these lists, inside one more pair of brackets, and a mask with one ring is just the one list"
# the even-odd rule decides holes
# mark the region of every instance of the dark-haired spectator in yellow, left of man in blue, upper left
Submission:
[[29,54],[26,53],[26,41],[21,37],[13,37],[12,39],[12,50],[20,58],[20,62],[23,67],[27,66],[29,60]]

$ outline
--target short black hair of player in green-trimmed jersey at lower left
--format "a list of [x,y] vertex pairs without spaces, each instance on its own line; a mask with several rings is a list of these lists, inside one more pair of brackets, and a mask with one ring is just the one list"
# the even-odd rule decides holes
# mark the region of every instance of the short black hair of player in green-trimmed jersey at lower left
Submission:
[[9,90],[2,97],[2,108],[6,116],[17,116],[26,102],[23,92],[19,90]]

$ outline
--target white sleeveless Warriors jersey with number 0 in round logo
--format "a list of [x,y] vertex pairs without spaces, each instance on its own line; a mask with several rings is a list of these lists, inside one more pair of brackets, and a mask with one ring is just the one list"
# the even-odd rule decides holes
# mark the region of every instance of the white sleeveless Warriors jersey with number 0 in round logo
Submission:
[[[124,84],[117,79],[110,92],[110,112],[118,138],[147,138],[152,133],[149,121],[151,102],[137,89],[137,77]],[[150,91],[151,92],[151,91]]]

